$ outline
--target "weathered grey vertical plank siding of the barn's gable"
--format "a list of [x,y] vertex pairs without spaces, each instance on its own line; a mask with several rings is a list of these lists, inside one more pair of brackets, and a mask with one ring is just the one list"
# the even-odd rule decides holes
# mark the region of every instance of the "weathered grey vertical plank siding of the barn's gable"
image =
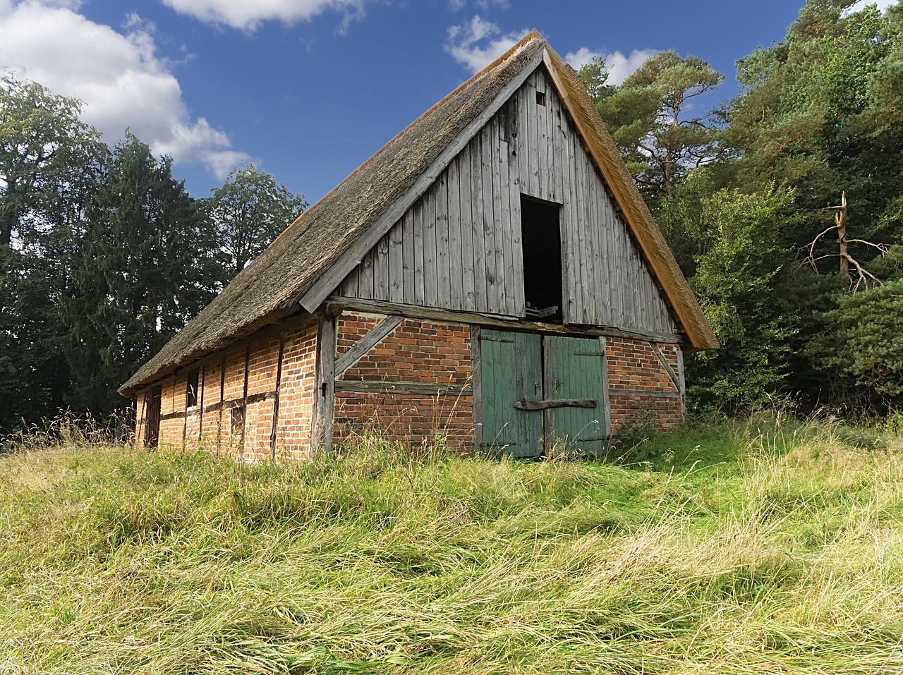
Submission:
[[[537,92],[545,93],[545,106],[537,104]],[[336,292],[523,318],[521,194],[562,205],[565,322],[676,332],[543,67]]]

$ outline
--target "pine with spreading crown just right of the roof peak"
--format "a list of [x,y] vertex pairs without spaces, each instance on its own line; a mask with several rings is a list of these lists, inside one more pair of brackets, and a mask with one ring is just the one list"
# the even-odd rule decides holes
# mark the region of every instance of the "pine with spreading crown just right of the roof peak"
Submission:
[[[711,112],[689,115],[689,103],[724,79],[698,56],[662,51],[650,57],[619,87],[600,79],[601,64],[582,69],[584,83],[618,144],[640,191],[655,207],[674,193],[687,171],[718,156],[718,132]],[[606,73],[607,75],[607,73]]]

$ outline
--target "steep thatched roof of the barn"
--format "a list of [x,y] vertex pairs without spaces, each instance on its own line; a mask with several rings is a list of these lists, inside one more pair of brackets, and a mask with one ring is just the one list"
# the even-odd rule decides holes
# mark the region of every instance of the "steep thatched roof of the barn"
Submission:
[[[505,103],[545,62],[588,151],[610,185],[657,281],[690,342],[717,347],[699,305],[573,69],[531,32],[495,62],[455,89],[386,144],[340,185],[286,227],[219,296],[144,364],[119,393],[141,388],[227,347],[303,307],[315,310],[360,260],[359,249],[383,236],[419,187],[442,171],[448,148],[479,131],[480,120]],[[366,252],[366,251],[365,251]],[[331,280],[335,279],[335,282]]]

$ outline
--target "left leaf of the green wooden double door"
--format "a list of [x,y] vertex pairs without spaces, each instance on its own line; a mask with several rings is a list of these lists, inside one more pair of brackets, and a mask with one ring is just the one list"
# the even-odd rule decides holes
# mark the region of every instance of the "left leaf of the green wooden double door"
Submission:
[[543,413],[518,411],[514,404],[543,395],[542,337],[482,329],[479,350],[481,447],[513,457],[537,457],[544,445]]

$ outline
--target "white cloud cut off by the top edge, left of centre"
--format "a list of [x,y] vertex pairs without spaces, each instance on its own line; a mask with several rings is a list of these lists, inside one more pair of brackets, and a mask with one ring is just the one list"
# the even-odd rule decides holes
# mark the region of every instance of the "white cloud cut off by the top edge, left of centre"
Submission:
[[176,12],[190,14],[204,23],[254,31],[265,21],[295,23],[327,10],[344,14],[343,28],[364,13],[368,0],[163,0]]

